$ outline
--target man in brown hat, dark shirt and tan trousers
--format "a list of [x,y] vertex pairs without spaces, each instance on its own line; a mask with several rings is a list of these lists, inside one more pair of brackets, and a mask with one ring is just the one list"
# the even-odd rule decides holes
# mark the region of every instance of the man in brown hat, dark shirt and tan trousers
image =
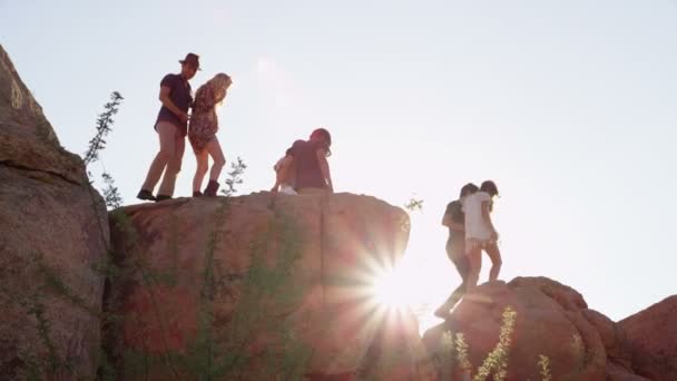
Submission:
[[[186,55],[179,60],[180,74],[168,74],[160,82],[160,102],[163,107],[155,123],[155,130],[160,140],[160,150],[150,164],[146,180],[137,198],[148,201],[163,201],[171,198],[176,176],[181,169],[186,135],[188,133],[188,108],[193,105],[190,80],[199,70],[199,57],[195,53]],[[153,196],[153,189],[163,177],[163,183]]]

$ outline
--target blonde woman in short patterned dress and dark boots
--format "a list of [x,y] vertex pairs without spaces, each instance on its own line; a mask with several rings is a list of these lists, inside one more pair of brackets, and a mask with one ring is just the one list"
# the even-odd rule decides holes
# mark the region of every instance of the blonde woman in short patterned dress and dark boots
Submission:
[[193,197],[203,195],[199,189],[209,167],[208,156],[212,156],[214,163],[209,172],[209,184],[207,184],[204,195],[216,196],[218,176],[224,165],[226,165],[226,158],[216,137],[218,130],[216,106],[219,106],[226,98],[230,84],[233,84],[230,77],[219,72],[200,86],[195,94],[188,129],[188,139],[197,159],[197,168],[193,178]]

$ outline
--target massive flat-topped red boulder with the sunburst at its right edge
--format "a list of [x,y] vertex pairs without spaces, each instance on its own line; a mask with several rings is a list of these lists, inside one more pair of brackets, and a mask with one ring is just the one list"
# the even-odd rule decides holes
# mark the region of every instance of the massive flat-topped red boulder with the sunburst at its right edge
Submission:
[[409,218],[350,194],[188,198],[111,214],[106,349],[124,379],[416,379],[415,319],[370,299]]

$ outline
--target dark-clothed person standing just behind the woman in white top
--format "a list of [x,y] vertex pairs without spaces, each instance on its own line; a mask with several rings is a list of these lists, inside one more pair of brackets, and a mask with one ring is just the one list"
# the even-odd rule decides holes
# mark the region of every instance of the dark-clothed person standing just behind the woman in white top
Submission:
[[457,267],[461,275],[462,283],[449,295],[447,301],[440,305],[434,314],[438,318],[447,319],[449,311],[457,304],[465,292],[465,282],[470,272],[470,261],[465,255],[465,215],[462,211],[462,203],[465,197],[477,193],[479,187],[472,183],[465,184],[461,188],[459,199],[447,205],[447,211],[442,217],[442,225],[449,228],[449,238],[447,240],[447,255],[451,263]]

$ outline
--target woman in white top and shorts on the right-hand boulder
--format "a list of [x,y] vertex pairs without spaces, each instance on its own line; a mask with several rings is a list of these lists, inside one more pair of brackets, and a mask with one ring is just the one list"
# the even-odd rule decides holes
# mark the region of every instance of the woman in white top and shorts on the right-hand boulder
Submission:
[[470,261],[470,271],[465,281],[467,294],[472,294],[477,287],[480,270],[482,268],[482,251],[491,260],[489,281],[496,281],[501,271],[502,260],[498,246],[499,234],[491,221],[494,196],[499,189],[492,180],[480,185],[480,190],[465,197],[462,211],[465,214],[465,253]]

